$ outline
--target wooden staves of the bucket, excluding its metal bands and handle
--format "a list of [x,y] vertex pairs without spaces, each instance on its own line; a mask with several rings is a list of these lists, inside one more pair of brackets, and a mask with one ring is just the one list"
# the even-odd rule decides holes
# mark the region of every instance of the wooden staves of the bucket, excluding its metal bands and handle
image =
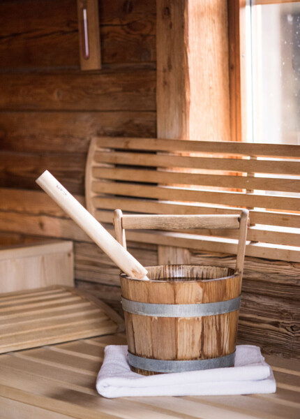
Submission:
[[[121,275],[123,297],[152,304],[199,304],[230,300],[238,297],[241,289],[241,276],[231,269],[163,265],[147,270],[154,281],[135,281]],[[140,316],[125,311],[125,323],[128,351],[144,358],[209,359],[229,355],[235,349],[237,311],[191,318]],[[153,374],[142,369],[138,372]]]

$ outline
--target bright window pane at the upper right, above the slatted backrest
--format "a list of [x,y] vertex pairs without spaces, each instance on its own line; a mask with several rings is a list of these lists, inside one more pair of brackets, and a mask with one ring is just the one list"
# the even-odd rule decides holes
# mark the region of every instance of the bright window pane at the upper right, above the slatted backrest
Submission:
[[251,0],[248,20],[248,139],[300,145],[300,1]]

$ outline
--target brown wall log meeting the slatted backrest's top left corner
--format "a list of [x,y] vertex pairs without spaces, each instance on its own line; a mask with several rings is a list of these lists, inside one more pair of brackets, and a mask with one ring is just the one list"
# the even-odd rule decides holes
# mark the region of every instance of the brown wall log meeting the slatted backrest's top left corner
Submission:
[[2,150],[87,153],[95,135],[153,137],[156,112],[0,112]]

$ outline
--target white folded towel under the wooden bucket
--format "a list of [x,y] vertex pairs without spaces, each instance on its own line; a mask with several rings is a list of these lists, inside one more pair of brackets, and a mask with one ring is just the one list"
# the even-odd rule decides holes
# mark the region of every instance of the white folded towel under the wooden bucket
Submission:
[[260,348],[237,346],[234,367],[142,376],[130,370],[127,346],[106,346],[96,388],[104,397],[248,395],[276,392]]

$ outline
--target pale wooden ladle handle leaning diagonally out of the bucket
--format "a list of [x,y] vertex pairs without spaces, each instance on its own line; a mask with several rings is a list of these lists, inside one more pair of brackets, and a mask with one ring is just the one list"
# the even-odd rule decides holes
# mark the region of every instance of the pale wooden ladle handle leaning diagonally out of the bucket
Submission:
[[51,175],[43,172],[36,183],[91,237],[129,277],[148,279],[147,270]]

